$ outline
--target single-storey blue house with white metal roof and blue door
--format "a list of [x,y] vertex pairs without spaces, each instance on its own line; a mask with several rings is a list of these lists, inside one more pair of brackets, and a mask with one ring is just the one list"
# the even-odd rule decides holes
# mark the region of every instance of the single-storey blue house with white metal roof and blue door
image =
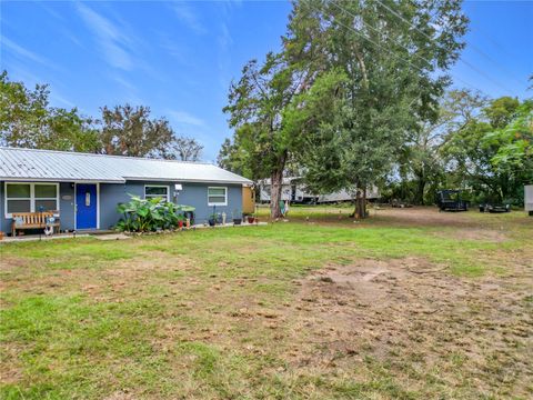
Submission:
[[210,163],[0,147],[0,230],[39,210],[56,211],[61,230],[107,230],[130,194],[193,206],[197,223],[213,209],[230,219],[251,183]]

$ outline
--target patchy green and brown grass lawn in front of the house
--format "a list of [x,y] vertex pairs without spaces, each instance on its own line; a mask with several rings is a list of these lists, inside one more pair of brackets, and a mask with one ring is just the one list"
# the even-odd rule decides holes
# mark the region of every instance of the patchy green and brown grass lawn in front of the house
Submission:
[[532,398],[533,218],[349,212],[0,244],[0,398]]

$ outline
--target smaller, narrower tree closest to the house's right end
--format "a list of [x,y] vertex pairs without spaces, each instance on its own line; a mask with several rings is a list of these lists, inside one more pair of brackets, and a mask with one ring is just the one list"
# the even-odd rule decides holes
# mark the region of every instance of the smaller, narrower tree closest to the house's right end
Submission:
[[[230,127],[235,129],[233,146],[227,143],[228,158],[240,154],[242,170],[253,179],[269,177],[272,182],[271,214],[281,214],[281,182],[293,137],[285,129],[284,111],[300,90],[296,79],[283,54],[268,53],[264,62],[249,61],[238,82],[233,82],[223,109]],[[233,161],[235,159],[233,158]],[[219,156],[219,162],[224,161]]]

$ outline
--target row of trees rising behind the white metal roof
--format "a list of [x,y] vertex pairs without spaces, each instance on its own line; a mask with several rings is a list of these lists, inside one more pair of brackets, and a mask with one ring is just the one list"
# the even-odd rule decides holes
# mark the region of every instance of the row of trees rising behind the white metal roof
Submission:
[[151,118],[150,108],[102,107],[99,118],[78,109],[51,107],[47,84],[33,90],[0,74],[0,143],[30,149],[69,150],[113,156],[198,161],[203,147],[177,136],[165,118]]

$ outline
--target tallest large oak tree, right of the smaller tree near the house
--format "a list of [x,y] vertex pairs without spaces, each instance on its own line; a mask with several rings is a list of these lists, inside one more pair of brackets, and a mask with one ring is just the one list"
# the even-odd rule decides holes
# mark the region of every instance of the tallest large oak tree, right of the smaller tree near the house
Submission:
[[445,70],[459,58],[465,29],[460,1],[295,3],[284,40],[289,64],[314,78],[332,69],[345,76],[343,106],[333,121],[316,121],[299,152],[308,184],[361,189],[364,198],[408,133],[436,119],[450,82]]

